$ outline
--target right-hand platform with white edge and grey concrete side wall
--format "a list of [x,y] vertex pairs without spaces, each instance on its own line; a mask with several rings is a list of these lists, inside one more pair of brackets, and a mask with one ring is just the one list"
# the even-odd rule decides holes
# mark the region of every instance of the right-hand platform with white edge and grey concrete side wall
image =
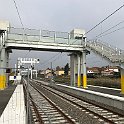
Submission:
[[51,83],[50,86],[124,115],[124,97],[119,89],[107,89],[97,86],[88,86],[88,88],[83,89],[82,87],[78,88],[55,83]]

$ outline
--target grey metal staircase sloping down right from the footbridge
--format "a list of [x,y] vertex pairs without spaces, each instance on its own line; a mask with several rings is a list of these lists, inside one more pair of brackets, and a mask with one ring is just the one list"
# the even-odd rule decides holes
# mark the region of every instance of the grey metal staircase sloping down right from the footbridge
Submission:
[[124,62],[124,51],[101,41],[87,41],[86,47],[112,63]]

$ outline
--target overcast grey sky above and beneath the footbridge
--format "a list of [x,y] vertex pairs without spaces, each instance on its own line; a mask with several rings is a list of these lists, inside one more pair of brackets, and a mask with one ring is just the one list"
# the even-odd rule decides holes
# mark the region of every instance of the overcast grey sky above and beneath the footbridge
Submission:
[[[70,32],[74,28],[88,31],[114,10],[124,4],[123,0],[16,0],[24,27],[36,29],[48,29]],[[12,27],[21,27],[20,20],[13,0],[0,0],[0,20],[9,20]],[[87,34],[88,39],[94,38],[99,33],[124,20],[124,8]],[[124,23],[117,28],[124,27]],[[113,30],[115,30],[113,29]],[[113,46],[124,49],[124,29],[119,30],[100,40]],[[10,65],[13,66],[17,57],[38,57],[41,63],[57,53],[13,51],[10,56]],[[57,57],[56,57],[57,58]],[[96,56],[87,57],[88,66],[97,66],[103,59],[95,59]],[[54,58],[55,59],[55,58]],[[54,60],[53,59],[53,60]],[[58,55],[53,66],[64,66],[69,62],[69,57],[62,53]],[[49,65],[49,66],[48,66]],[[42,67],[41,67],[42,66]],[[39,68],[50,67],[50,62]]]

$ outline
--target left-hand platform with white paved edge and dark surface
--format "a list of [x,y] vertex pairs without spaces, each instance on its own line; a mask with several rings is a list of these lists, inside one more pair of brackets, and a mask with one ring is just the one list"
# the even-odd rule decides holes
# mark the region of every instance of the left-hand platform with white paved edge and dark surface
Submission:
[[26,124],[22,84],[0,91],[0,124]]

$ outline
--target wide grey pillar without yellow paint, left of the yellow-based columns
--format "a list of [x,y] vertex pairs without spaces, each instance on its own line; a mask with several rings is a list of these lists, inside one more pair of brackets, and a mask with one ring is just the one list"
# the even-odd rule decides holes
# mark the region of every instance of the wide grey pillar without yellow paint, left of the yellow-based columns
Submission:
[[71,86],[75,86],[76,83],[76,77],[75,77],[75,71],[76,71],[76,56],[75,54],[70,54],[70,78],[71,78]]

